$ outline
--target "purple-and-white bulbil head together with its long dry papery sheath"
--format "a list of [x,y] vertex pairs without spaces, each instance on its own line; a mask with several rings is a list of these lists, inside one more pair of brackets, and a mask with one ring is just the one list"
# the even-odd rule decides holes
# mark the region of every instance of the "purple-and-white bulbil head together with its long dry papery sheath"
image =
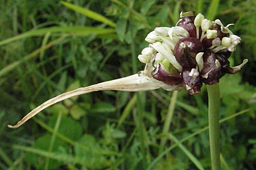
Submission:
[[175,27],[157,27],[148,33],[146,41],[150,44],[138,56],[146,64],[143,71],[125,78],[110,80],[88,87],[65,92],[32,110],[16,125],[34,117],[43,109],[73,96],[102,90],[146,91],[163,88],[167,91],[185,88],[188,93],[199,94],[205,84],[218,83],[227,73],[241,70],[241,65],[230,67],[228,58],[240,43],[241,38],[234,35],[228,24],[226,27],[219,19],[214,21],[194,12],[181,12]]

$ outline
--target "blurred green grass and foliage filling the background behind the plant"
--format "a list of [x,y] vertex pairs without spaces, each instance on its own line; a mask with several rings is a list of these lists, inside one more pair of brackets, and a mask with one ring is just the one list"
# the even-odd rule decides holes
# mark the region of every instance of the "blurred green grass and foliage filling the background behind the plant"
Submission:
[[249,62],[220,82],[221,165],[255,169],[253,0],[0,0],[0,169],[210,169],[205,87],[94,92],[7,129],[62,92],[143,70],[147,33],[191,10],[242,37],[230,62]]

